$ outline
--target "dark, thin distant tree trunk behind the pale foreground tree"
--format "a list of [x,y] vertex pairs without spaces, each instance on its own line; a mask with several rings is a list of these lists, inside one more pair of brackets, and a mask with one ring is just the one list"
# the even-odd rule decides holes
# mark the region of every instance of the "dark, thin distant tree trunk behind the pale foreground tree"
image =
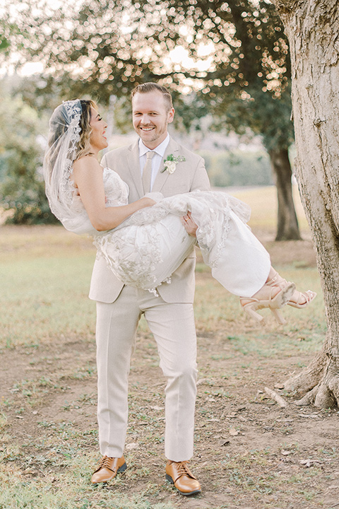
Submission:
[[301,240],[292,195],[292,169],[287,148],[268,151],[278,194],[278,230],[275,240]]

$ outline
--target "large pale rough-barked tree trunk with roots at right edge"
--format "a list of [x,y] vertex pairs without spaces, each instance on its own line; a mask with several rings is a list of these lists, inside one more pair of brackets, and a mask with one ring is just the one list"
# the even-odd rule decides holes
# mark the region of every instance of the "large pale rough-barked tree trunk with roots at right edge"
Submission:
[[339,404],[339,4],[273,0],[290,41],[296,177],[316,247],[328,332],[323,350],[287,389],[300,404]]

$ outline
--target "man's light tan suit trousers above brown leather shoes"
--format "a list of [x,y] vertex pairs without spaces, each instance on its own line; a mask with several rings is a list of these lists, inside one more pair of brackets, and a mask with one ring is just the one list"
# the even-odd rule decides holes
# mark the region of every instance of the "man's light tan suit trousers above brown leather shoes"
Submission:
[[124,453],[130,359],[142,314],[157,343],[165,375],[165,455],[193,455],[196,401],[196,330],[191,303],[165,303],[152,293],[124,286],[114,303],[97,302],[97,374],[100,451]]

